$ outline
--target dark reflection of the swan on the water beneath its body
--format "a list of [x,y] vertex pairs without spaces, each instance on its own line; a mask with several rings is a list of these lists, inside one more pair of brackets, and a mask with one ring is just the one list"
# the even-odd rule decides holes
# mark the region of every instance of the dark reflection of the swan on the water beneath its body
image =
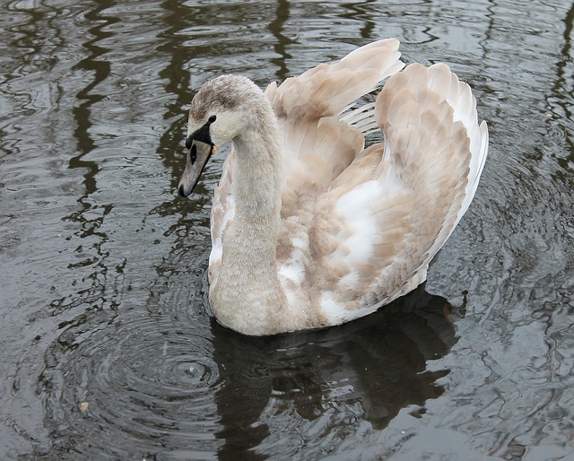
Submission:
[[251,338],[213,320],[220,458],[265,449],[291,457],[301,445],[336,449],[335,439],[361,421],[380,431],[404,407],[422,411],[442,393],[434,383],[447,371],[424,370],[456,342],[451,308],[422,285],[370,317],[314,332]]

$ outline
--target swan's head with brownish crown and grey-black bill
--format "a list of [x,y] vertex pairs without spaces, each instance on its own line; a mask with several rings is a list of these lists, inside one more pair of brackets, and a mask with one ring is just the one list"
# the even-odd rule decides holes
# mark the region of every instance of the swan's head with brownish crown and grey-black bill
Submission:
[[214,78],[197,91],[189,109],[187,160],[178,185],[180,196],[193,192],[213,153],[244,132],[253,113],[246,110],[247,106],[262,94],[255,83],[239,75]]

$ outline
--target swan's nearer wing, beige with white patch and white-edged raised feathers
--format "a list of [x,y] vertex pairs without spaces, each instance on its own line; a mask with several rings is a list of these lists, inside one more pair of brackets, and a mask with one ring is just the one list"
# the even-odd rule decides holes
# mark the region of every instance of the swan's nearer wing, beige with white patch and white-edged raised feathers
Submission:
[[[385,143],[358,153],[280,242],[291,248],[279,271],[287,297],[302,302],[294,291],[307,291],[327,325],[367,315],[426,279],[487,155],[474,97],[447,65],[391,76],[375,117]],[[297,228],[295,217],[287,222]]]

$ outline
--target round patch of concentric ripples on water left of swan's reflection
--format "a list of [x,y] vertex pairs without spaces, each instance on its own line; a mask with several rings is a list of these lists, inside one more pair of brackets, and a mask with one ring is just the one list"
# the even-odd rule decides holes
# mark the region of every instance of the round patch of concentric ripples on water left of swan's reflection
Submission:
[[157,315],[117,317],[87,339],[60,336],[50,351],[57,364],[41,377],[60,449],[122,459],[166,445],[184,457],[213,452],[221,382],[208,338]]

